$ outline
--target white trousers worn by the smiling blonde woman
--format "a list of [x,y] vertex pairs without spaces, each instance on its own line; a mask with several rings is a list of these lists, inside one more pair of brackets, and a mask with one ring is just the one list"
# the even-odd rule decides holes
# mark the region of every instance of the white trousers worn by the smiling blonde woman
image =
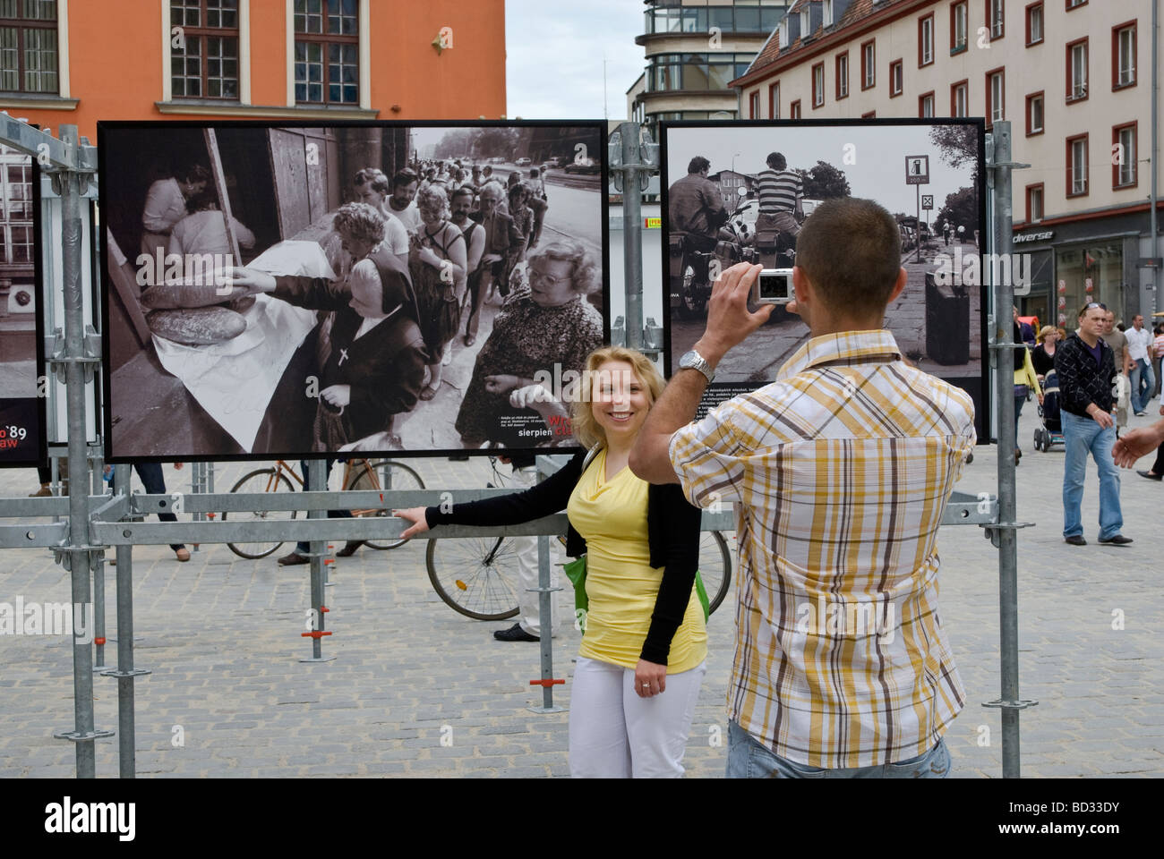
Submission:
[[677,779],[708,663],[667,675],[667,690],[640,698],[634,669],[579,656],[570,690],[570,775]]

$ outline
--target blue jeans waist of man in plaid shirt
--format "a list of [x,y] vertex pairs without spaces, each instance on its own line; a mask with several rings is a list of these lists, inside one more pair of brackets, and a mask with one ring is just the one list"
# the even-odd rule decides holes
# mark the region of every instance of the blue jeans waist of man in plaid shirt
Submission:
[[822,769],[774,754],[734,722],[728,723],[729,779],[944,779],[950,750],[939,739],[925,754],[874,767]]

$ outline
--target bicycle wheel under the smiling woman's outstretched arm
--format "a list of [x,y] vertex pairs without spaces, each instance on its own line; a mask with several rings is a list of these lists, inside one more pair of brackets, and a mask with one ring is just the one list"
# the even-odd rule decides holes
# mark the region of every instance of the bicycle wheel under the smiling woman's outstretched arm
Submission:
[[430,540],[428,581],[453,611],[477,620],[518,612],[517,551],[509,537]]

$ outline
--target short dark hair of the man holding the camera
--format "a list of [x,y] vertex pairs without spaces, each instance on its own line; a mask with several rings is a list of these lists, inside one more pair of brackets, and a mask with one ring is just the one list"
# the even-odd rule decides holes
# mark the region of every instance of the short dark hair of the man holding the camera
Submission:
[[825,200],[796,236],[796,265],[833,313],[885,313],[901,271],[901,228],[873,200]]

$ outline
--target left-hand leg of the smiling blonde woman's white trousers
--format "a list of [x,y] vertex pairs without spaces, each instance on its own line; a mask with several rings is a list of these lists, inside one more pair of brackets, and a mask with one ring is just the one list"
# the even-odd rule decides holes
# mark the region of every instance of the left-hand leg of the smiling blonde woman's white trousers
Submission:
[[631,748],[618,665],[579,656],[570,688],[569,760],[575,779],[630,779]]

